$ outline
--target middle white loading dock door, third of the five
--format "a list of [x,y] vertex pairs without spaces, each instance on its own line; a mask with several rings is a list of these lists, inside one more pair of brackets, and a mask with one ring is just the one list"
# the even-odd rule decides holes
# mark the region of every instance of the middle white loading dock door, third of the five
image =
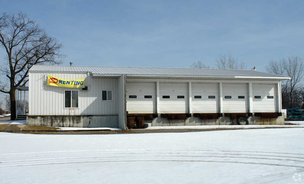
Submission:
[[219,83],[192,83],[192,113],[219,112]]

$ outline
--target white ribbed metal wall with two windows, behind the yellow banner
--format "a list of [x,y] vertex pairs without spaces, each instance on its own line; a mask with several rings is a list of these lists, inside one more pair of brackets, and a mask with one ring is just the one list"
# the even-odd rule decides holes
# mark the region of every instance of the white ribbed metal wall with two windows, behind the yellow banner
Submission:
[[[89,91],[81,88],[48,86],[47,75],[61,79],[85,78],[84,85]],[[117,115],[117,79],[91,78],[86,74],[64,73],[30,73],[29,77],[29,115],[69,115],[64,108],[64,90],[79,90],[79,108],[74,108],[75,115]],[[113,90],[112,101],[101,101],[101,90]]]

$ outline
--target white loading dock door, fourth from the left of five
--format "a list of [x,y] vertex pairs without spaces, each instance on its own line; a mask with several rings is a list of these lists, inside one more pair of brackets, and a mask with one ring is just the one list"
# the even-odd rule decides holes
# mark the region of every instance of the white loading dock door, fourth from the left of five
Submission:
[[248,84],[222,84],[223,113],[248,112]]

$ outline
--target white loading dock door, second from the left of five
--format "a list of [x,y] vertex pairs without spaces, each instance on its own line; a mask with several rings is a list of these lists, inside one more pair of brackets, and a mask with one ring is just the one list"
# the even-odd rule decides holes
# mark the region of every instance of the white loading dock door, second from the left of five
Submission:
[[160,113],[188,113],[188,85],[160,82]]

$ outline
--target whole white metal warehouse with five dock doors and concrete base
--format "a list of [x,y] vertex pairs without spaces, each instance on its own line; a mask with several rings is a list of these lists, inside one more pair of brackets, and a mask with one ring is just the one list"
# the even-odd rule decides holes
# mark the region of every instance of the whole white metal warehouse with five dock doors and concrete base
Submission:
[[[48,85],[48,75],[84,78],[84,86]],[[34,65],[27,123],[121,129],[283,124],[285,79],[253,70]]]

